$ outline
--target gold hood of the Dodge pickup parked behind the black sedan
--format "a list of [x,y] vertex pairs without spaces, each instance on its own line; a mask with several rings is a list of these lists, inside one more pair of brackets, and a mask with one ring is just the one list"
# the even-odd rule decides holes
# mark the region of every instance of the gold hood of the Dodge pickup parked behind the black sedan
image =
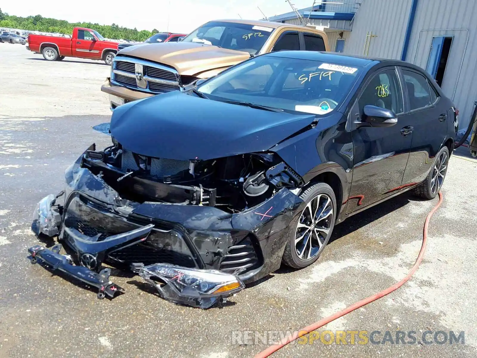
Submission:
[[229,67],[250,58],[249,53],[197,42],[161,42],[129,46],[121,55],[164,63],[179,74],[194,76],[216,68]]

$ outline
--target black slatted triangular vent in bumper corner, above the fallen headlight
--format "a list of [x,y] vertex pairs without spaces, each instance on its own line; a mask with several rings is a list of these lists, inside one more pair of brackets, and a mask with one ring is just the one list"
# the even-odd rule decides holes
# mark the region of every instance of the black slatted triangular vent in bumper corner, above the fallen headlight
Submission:
[[220,263],[220,271],[228,274],[234,273],[236,270],[244,268],[244,274],[250,270],[259,267],[259,259],[253,243],[249,236],[236,245],[228,248],[228,253]]

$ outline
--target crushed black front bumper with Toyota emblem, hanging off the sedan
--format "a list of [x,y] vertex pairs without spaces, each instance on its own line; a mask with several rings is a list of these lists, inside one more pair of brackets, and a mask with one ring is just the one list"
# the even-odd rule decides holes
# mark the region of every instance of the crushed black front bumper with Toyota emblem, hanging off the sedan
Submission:
[[[288,227],[304,206],[285,188],[234,214],[205,205],[133,202],[108,184],[118,188],[116,174],[95,167],[95,160],[83,155],[66,170],[64,193],[39,203],[32,229],[58,236],[76,262],[96,272],[106,262],[149,279],[147,267],[170,264],[253,282],[280,267]],[[160,190],[166,193],[168,185]]]

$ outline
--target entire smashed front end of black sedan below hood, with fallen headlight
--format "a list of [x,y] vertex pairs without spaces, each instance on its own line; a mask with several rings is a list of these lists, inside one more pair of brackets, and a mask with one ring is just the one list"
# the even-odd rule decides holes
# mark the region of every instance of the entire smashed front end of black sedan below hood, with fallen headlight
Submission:
[[57,236],[69,256],[33,247],[36,257],[96,287],[103,263],[129,269],[162,297],[200,308],[280,266],[303,180],[278,155],[154,158],[112,139],[88,148],[66,170],[65,190],[39,202],[33,232]]

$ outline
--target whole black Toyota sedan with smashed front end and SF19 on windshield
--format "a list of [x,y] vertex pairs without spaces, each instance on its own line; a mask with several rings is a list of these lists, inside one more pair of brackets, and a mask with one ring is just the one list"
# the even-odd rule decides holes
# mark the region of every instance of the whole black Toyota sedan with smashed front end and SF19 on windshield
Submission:
[[90,275],[83,281],[100,291],[112,284],[97,274],[103,263],[125,267],[176,302],[200,279],[194,302],[204,307],[203,297],[230,295],[281,263],[310,265],[335,223],[359,211],[411,189],[434,198],[456,113],[410,63],[253,57],[194,89],[116,108],[112,145],[86,150],[66,189],[35,211],[33,231],[57,236],[69,255],[37,246],[32,259]]

